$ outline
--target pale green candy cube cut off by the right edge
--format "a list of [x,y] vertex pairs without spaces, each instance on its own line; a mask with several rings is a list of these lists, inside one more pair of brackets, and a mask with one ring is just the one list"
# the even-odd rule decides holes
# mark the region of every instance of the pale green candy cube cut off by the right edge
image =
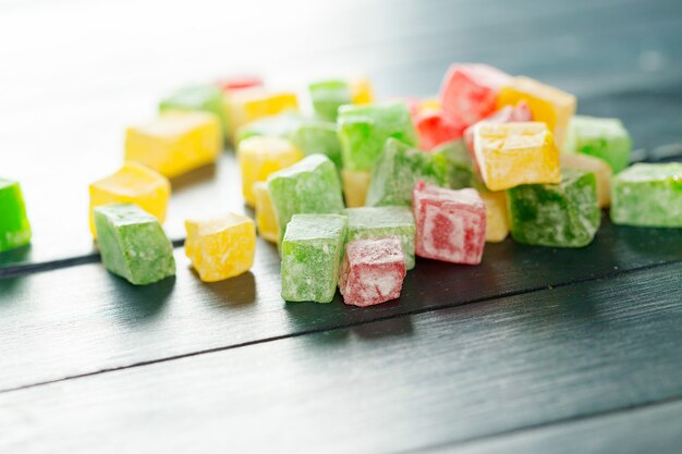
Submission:
[[682,163],[634,164],[611,180],[616,224],[682,228]]

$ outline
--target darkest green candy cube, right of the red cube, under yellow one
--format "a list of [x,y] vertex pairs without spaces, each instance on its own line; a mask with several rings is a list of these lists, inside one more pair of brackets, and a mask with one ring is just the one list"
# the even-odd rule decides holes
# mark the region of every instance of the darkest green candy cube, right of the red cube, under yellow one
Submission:
[[559,184],[524,184],[507,191],[511,234],[519,243],[583,247],[601,221],[597,179],[592,172],[562,171]]

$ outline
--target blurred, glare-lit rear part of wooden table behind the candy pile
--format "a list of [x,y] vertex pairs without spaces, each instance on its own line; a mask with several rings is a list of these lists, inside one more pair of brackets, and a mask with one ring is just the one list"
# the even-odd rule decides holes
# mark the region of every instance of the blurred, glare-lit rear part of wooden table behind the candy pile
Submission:
[[[170,89],[226,72],[255,71],[296,89],[314,77],[366,73],[388,98],[433,95],[451,62],[485,61],[575,93],[583,113],[623,118],[637,148],[682,143],[677,1],[523,0],[509,8],[504,0],[325,7],[296,0],[268,3],[267,15],[259,2],[239,14],[222,8],[193,2],[197,21],[161,0],[7,10],[0,40],[22,46],[0,49],[0,61],[13,70],[0,74],[8,94],[0,116],[12,120],[0,123],[1,171],[22,182],[35,234],[32,247],[0,254],[0,267],[92,260],[87,185],[120,165],[124,127],[154,115]],[[278,11],[288,9],[301,13],[280,21]],[[125,32],[117,25],[122,22]],[[31,34],[34,28],[51,36],[52,46]],[[173,240],[184,236],[185,217],[215,210],[217,201],[243,211],[233,165],[227,156],[174,182],[167,222]]]

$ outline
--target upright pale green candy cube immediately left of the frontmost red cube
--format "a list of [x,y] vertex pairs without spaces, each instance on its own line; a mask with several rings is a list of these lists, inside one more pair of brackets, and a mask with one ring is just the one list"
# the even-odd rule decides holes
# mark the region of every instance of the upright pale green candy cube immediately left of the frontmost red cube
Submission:
[[282,298],[329,303],[337,292],[348,220],[340,214],[295,214],[282,240]]

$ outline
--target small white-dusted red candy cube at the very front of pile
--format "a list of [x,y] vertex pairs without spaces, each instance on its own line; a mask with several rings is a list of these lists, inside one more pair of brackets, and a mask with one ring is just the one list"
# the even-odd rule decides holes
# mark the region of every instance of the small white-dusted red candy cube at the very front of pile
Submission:
[[400,240],[356,240],[345,245],[339,290],[345,304],[373,306],[400,296],[405,258]]

